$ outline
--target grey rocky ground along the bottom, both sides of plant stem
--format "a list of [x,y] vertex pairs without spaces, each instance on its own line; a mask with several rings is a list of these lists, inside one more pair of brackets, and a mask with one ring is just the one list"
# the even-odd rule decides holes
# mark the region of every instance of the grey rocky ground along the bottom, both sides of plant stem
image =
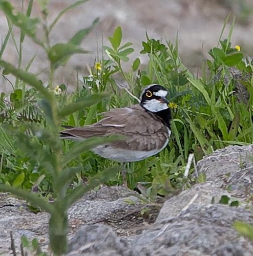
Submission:
[[[251,256],[253,242],[233,223],[253,224],[253,145],[230,146],[197,164],[207,182],[163,204],[141,204],[123,187],[102,187],[79,200],[68,212],[68,256]],[[221,196],[238,207],[220,204]],[[129,203],[131,202],[131,203]],[[21,235],[38,238],[47,250],[46,213],[31,213],[24,201],[0,194],[0,255],[11,255],[10,231],[17,252]],[[18,255],[20,255],[18,253]]]

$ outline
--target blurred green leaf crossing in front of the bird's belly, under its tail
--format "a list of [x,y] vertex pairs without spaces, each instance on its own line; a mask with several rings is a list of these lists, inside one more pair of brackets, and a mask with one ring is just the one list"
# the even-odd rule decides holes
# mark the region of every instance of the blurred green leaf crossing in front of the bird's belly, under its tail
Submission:
[[108,137],[91,137],[85,139],[82,142],[76,143],[75,146],[71,148],[71,151],[67,152],[63,158],[63,166],[66,165],[69,161],[76,158],[81,153],[84,153],[90,149],[93,149],[99,145],[111,143],[118,140],[124,140],[126,136],[122,135],[110,135]]

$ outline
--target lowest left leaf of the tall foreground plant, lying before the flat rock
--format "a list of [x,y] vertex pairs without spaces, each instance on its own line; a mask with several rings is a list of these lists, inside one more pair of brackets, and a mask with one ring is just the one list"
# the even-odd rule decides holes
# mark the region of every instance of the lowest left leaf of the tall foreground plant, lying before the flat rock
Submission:
[[27,200],[32,205],[41,208],[42,210],[46,211],[47,213],[54,213],[54,208],[52,205],[47,203],[42,197],[31,193],[29,191],[23,190],[21,188],[13,188],[5,184],[0,184],[0,191],[1,192],[10,192],[14,195],[17,195],[24,200]]

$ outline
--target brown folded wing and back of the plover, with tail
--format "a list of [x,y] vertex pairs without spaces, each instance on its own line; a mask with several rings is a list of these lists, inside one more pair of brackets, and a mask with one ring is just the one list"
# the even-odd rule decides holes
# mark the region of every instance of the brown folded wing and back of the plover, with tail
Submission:
[[114,142],[111,146],[145,151],[161,148],[168,139],[168,129],[159,117],[140,105],[115,108],[104,115],[105,118],[93,125],[66,129],[61,135],[68,138],[89,138],[123,134],[127,139]]

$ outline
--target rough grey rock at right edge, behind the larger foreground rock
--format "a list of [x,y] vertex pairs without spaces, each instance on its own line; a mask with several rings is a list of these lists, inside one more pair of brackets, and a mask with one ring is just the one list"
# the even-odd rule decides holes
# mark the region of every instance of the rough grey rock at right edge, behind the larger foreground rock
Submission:
[[232,195],[247,198],[253,191],[253,145],[229,146],[218,149],[197,163],[207,181],[232,191]]

